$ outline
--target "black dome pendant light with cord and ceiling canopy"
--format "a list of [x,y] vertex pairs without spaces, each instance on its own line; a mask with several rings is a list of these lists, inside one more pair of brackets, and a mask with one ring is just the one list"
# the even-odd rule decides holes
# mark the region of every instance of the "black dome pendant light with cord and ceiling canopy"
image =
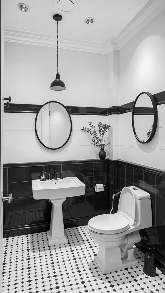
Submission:
[[62,16],[60,14],[53,15],[53,19],[57,21],[57,74],[55,75],[55,80],[52,81],[50,89],[53,91],[63,91],[65,90],[65,84],[60,80],[60,74],[58,73],[58,21],[61,21]]

